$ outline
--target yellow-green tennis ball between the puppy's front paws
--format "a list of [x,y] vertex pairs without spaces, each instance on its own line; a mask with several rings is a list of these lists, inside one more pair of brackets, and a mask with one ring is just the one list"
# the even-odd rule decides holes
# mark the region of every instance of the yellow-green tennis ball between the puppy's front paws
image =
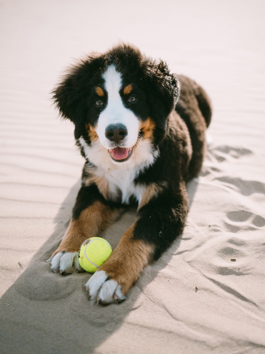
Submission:
[[82,243],[78,251],[78,261],[84,270],[95,273],[111,253],[112,249],[108,241],[101,237],[91,237]]

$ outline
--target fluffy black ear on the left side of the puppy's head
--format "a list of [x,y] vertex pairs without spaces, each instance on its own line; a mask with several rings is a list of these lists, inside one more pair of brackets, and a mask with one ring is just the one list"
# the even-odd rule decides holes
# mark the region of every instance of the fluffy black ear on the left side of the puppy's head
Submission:
[[86,121],[86,104],[82,93],[84,67],[73,67],[64,75],[63,80],[52,91],[53,102],[60,115],[75,124],[75,138],[79,139]]

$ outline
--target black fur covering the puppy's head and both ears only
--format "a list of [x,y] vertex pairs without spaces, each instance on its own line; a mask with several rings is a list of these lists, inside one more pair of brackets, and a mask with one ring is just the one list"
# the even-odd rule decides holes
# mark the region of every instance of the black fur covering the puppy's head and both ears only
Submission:
[[105,54],[89,56],[71,67],[53,91],[53,100],[61,116],[75,124],[76,139],[86,135],[85,122],[94,125],[100,113],[100,108],[93,105],[96,96],[92,88],[102,86],[101,75],[111,64],[116,66],[126,81],[134,82],[135,93],[141,96],[141,104],[131,109],[143,121],[152,115],[158,126],[155,135],[158,142],[164,136],[167,116],[178,100],[178,79],[170,74],[166,63],[157,63],[143,56],[133,46],[117,46]]

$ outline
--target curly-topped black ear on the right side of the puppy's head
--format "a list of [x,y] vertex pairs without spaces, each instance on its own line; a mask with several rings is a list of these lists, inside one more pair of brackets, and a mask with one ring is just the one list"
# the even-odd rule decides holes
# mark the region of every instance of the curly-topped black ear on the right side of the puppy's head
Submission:
[[175,108],[180,92],[177,77],[169,72],[167,64],[160,60],[153,62],[146,76],[148,82],[148,101],[154,120],[166,130],[167,117]]

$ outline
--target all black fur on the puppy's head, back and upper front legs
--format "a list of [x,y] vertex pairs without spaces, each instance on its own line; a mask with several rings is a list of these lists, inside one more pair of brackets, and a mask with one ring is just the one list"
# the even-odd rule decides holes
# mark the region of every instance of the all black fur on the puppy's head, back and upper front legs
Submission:
[[[104,54],[93,54],[80,61],[53,91],[60,114],[75,124],[75,138],[83,136],[88,145],[91,138],[87,125],[94,127],[104,109],[104,106],[95,107],[98,96],[93,88],[99,86],[105,90],[101,75],[110,64],[115,65],[124,82],[132,84],[134,94],[141,98],[137,103],[129,104],[123,87],[120,96],[124,106],[132,110],[142,124],[149,117],[155,124],[152,144],[154,150],[159,149],[159,157],[140,171],[134,184],[149,186],[156,183],[161,188],[138,211],[133,238],[152,244],[153,256],[157,259],[183,231],[188,212],[185,183],[198,175],[201,169],[205,130],[211,121],[211,104],[199,85],[185,76],[177,78],[169,72],[165,62],[146,57],[134,46],[119,45]],[[107,101],[107,92],[104,93],[102,100]],[[77,144],[85,156],[78,140]],[[100,194],[95,182],[85,187],[89,166],[96,168],[90,161],[86,162],[83,187],[77,197],[73,218],[78,218],[95,200],[111,209],[119,206],[118,192],[113,202]]]

